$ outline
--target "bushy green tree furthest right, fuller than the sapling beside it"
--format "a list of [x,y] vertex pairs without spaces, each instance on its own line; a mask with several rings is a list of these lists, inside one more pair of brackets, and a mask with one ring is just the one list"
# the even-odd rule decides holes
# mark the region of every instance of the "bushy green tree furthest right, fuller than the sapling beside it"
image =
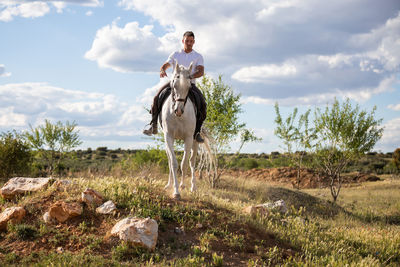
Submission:
[[370,151],[381,138],[382,119],[375,119],[376,107],[370,113],[351,106],[347,99],[340,104],[335,99],[325,111],[317,109],[314,124],[318,134],[316,154],[323,174],[330,179],[333,200],[339,196],[341,173],[347,164]]

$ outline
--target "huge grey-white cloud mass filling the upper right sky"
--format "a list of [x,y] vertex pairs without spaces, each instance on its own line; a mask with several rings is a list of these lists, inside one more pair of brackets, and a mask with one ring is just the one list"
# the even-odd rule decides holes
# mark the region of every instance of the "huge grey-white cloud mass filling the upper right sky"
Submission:
[[[374,0],[122,0],[119,5],[164,27],[156,52],[172,52],[182,33],[193,30],[206,72],[231,78],[228,83],[244,96],[318,100],[342,92],[365,100],[399,73],[398,0],[379,5]],[[121,68],[119,61],[113,69]],[[138,66],[122,69],[138,71]]]

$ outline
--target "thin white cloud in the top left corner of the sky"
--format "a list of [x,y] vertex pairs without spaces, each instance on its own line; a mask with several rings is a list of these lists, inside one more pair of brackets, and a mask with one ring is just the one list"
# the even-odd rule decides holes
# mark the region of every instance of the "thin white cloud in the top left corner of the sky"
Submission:
[[0,1],[0,21],[12,21],[14,17],[38,18],[51,11],[49,4],[56,8],[57,13],[62,13],[67,4],[97,7],[103,3],[99,0],[2,0]]

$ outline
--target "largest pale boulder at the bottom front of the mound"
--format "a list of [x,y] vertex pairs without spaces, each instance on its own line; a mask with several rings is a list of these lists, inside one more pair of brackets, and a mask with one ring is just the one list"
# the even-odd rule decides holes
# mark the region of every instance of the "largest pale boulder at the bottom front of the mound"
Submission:
[[114,225],[111,235],[118,236],[133,246],[154,250],[158,238],[158,224],[150,218],[128,217]]

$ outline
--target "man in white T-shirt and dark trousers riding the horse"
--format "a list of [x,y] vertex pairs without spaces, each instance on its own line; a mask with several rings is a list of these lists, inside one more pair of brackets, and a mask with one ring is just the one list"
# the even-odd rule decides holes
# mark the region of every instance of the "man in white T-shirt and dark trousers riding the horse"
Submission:
[[[193,62],[192,74],[190,75],[192,87],[189,91],[189,97],[191,99],[198,99],[199,103],[194,101],[194,104],[197,107],[197,118],[196,118],[196,129],[194,132],[194,138],[197,142],[204,142],[203,138],[200,136],[201,126],[206,119],[207,115],[207,105],[204,99],[202,92],[196,87],[196,78],[200,78],[204,75],[204,60],[203,56],[193,50],[193,45],[195,43],[194,34],[191,31],[187,31],[183,34],[182,44],[183,49],[177,52],[172,53],[167,61],[160,68],[160,78],[167,77],[167,73],[165,72],[169,67],[175,67],[175,64],[183,65],[186,68],[189,67],[190,63]],[[169,90],[170,84],[166,83],[163,85],[153,100],[153,105],[151,107],[151,115],[152,120],[150,122],[150,128],[143,131],[146,135],[157,134],[157,120],[158,115],[161,112],[158,107],[158,100],[160,94],[164,90]],[[192,100],[193,101],[193,100]]]

